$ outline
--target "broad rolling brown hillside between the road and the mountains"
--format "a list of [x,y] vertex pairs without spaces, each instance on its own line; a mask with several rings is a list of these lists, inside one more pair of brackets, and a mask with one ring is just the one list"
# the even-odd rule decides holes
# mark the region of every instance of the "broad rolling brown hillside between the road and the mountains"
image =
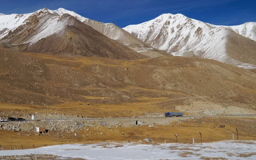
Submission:
[[256,74],[214,60],[157,57],[130,61],[24,54],[1,48],[0,61],[3,103],[91,104],[94,109],[108,105],[116,110],[126,106],[125,112],[131,105],[148,112],[192,112],[198,107],[207,113],[255,112]]

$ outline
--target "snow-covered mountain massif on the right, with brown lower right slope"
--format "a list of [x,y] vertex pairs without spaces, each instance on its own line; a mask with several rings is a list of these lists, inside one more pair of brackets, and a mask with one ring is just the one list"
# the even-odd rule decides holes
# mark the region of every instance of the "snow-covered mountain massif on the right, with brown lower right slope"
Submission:
[[[154,48],[167,51],[175,56],[197,56],[200,58],[215,59],[220,62],[236,65],[243,68],[256,68],[256,22],[248,22],[238,26],[217,26],[188,18],[182,14],[162,14],[154,20],[138,25],[128,25],[123,28],[137,36]],[[234,32],[233,32],[234,31]],[[227,44],[232,43],[229,39],[241,34],[240,41],[250,44],[254,51],[244,50],[232,52],[227,49]],[[246,38],[247,37],[247,38]],[[248,39],[250,38],[250,39]],[[241,51],[241,50],[237,50]],[[253,57],[253,61],[234,56]]]

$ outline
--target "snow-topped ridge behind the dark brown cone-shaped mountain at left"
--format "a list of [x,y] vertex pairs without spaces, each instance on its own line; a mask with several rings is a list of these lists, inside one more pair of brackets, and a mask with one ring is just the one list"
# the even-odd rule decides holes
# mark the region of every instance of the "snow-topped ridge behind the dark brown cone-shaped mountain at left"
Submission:
[[[102,23],[97,22],[96,20],[90,20],[88,18],[82,17],[79,14],[76,14],[73,11],[68,11],[64,8],[59,8],[57,10],[49,10],[47,8],[40,9],[30,14],[10,14],[4,15],[0,14],[0,39],[7,36],[10,31],[15,31],[16,28],[19,28],[22,25],[25,25],[29,22],[29,17],[36,16],[40,17],[42,13],[47,13],[54,15],[53,19],[56,19],[57,16],[63,16],[64,14],[70,14],[71,16],[75,17],[81,22],[84,22],[86,25],[90,25],[92,28],[96,29],[97,31],[101,32],[105,36],[108,36],[111,39],[116,40],[122,45],[131,48],[134,51],[137,51],[141,54],[144,54],[149,57],[155,56],[163,56],[166,55],[165,51],[160,51],[155,48],[152,48],[150,45],[146,44],[142,40],[138,39],[137,37],[131,35],[127,31],[118,26],[114,25],[113,23]],[[49,21],[48,21],[49,22]],[[44,24],[46,28],[52,28],[50,31],[45,30],[41,34],[37,35],[37,40],[45,38],[50,34],[57,34],[58,31],[61,31],[62,26],[58,25],[60,28],[55,28],[56,22],[49,22],[49,24]],[[12,33],[11,32],[11,33]],[[44,33],[45,32],[45,33]],[[35,37],[33,39],[35,41]],[[29,41],[26,41],[26,43]]]

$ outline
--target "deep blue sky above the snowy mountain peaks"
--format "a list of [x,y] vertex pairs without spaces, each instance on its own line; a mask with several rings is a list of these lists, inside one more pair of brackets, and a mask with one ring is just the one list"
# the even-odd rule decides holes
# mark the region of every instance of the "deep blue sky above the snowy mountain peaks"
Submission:
[[31,13],[65,8],[119,27],[145,22],[160,14],[181,13],[215,25],[256,22],[256,0],[1,0],[0,13]]

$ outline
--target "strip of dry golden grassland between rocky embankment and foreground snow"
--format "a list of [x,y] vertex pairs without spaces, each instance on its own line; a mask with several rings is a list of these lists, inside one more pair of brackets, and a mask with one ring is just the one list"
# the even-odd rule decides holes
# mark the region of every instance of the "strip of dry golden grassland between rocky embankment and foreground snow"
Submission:
[[[225,124],[225,128],[219,128]],[[256,119],[252,118],[194,118],[183,122],[174,122],[169,125],[134,126],[134,127],[86,127],[75,132],[52,131],[37,135],[36,132],[0,131],[0,145],[8,149],[20,145],[32,147],[58,145],[64,143],[98,143],[106,141],[128,142],[151,138],[157,143],[175,143],[178,134],[178,143],[200,143],[202,133],[203,143],[218,140],[232,140],[232,134],[239,130],[239,140],[256,140],[256,129],[253,127]],[[90,129],[90,130],[87,130]],[[101,134],[104,133],[104,134]],[[125,135],[122,135],[124,133]],[[75,135],[76,134],[76,135]]]

